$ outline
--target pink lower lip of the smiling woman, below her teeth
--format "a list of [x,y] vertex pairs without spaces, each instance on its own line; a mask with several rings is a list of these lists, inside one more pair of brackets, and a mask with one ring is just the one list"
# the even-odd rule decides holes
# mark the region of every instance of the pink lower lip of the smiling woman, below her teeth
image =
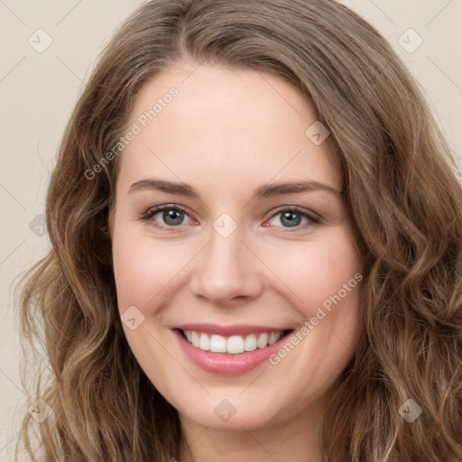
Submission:
[[290,334],[285,335],[277,342],[273,343],[273,345],[257,348],[254,351],[247,351],[237,355],[225,355],[223,353],[211,353],[193,347],[177,329],[173,330],[173,334],[178,338],[185,355],[189,357],[192,363],[198,365],[204,371],[221,375],[245,374],[255,369],[267,361],[268,358],[282,346],[282,343],[285,343],[290,337]]

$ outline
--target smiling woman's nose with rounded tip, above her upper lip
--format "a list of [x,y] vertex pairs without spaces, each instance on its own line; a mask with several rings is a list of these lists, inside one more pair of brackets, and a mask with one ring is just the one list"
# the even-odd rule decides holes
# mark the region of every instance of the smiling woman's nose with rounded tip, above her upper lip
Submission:
[[217,306],[236,306],[256,299],[263,290],[262,262],[237,229],[227,237],[211,229],[208,245],[198,255],[190,289]]

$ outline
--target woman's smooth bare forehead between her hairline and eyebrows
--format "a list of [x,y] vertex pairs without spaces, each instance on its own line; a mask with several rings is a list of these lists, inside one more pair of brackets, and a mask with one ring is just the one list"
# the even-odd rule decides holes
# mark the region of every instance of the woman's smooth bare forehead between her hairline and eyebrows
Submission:
[[306,134],[316,122],[300,90],[273,74],[205,64],[171,69],[135,98],[126,127],[137,133],[120,154],[120,175],[215,179],[222,189],[312,178],[339,188],[328,143]]

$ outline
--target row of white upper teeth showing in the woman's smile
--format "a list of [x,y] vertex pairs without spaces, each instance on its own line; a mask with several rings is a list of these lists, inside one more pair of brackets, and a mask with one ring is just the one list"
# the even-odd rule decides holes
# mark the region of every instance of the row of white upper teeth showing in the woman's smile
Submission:
[[268,347],[268,345],[273,345],[273,343],[277,342],[283,335],[283,331],[231,337],[209,336],[204,332],[195,332],[193,330],[183,330],[183,332],[189,343],[194,347],[213,353],[230,353],[232,355]]

